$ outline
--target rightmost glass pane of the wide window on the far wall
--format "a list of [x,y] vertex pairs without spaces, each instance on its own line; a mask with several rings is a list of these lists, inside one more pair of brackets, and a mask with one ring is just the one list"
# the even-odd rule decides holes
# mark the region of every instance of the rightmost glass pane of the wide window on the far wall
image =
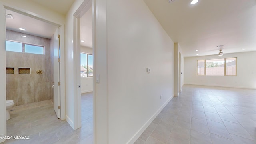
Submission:
[[226,76],[236,76],[236,58],[226,58]]

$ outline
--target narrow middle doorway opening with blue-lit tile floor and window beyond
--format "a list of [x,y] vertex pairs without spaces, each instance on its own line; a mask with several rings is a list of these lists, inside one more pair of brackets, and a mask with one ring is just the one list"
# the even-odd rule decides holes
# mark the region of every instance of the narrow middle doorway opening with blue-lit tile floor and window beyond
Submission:
[[84,1],[74,14],[74,58],[76,80],[74,129],[86,131],[86,143],[93,140],[93,36],[92,1]]

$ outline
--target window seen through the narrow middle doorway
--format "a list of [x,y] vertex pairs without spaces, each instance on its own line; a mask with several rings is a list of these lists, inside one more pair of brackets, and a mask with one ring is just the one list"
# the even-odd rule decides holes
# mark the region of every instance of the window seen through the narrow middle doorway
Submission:
[[92,54],[86,54],[86,53],[81,53],[80,54],[80,67],[81,67],[81,70],[80,70],[80,73],[81,73],[81,78],[84,78],[84,77],[92,77],[93,74],[93,64],[92,64],[92,61],[93,61],[93,56]]

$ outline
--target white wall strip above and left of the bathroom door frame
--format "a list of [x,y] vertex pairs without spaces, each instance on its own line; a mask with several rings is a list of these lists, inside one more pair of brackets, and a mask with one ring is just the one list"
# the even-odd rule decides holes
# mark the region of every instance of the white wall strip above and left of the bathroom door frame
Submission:
[[[46,19],[58,24],[64,24],[65,17],[62,14],[46,9],[30,0],[0,0],[0,135],[6,136],[6,53],[5,53],[5,15],[4,6],[28,12],[34,16]],[[2,142],[3,140],[0,140]]]

